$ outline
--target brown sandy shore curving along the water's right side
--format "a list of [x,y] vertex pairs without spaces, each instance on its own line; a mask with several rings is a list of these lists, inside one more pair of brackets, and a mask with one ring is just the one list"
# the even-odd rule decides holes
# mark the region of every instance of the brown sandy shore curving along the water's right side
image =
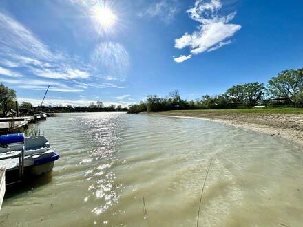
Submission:
[[153,113],[153,115],[178,118],[203,118],[205,120],[267,133],[271,136],[281,136],[303,145],[303,114],[191,113],[169,111]]

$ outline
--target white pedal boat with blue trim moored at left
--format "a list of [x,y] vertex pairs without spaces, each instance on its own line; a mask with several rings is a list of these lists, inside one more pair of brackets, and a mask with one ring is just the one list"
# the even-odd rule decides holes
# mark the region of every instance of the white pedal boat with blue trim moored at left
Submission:
[[23,175],[42,175],[52,171],[59,158],[45,136],[0,136],[0,167],[6,168],[6,175],[17,172],[20,179]]

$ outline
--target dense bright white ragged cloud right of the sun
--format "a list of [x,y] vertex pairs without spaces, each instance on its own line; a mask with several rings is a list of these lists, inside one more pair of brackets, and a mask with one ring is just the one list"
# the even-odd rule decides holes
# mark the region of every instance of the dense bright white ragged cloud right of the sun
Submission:
[[[241,26],[229,23],[236,12],[222,16],[220,15],[221,8],[220,0],[196,0],[194,7],[187,10],[187,13],[200,25],[193,34],[185,33],[176,39],[175,47],[178,49],[189,47],[191,54],[200,54],[217,50],[231,43],[229,38],[240,30]],[[191,58],[191,54],[174,58],[174,61],[181,63]]]

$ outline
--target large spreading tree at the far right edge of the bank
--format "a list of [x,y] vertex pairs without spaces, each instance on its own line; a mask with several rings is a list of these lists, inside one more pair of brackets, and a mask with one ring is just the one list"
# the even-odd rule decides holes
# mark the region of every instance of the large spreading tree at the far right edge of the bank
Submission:
[[269,80],[269,93],[282,96],[297,107],[303,96],[303,69],[284,70]]

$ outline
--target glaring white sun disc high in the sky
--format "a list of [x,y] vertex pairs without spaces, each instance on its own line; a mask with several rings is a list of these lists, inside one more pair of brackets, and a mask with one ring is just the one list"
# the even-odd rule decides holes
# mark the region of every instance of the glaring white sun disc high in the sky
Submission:
[[94,10],[94,18],[103,28],[111,28],[117,21],[116,14],[110,8],[98,7]]

